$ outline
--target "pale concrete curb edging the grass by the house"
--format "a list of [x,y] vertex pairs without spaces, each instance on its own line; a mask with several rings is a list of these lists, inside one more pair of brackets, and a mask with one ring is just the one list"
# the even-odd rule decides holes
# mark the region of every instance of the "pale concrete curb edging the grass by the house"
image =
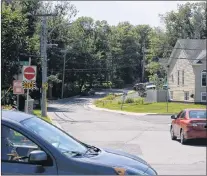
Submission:
[[172,114],[158,114],[158,113],[136,113],[136,112],[126,112],[126,111],[118,111],[118,110],[110,110],[106,108],[98,108],[94,104],[90,105],[84,105],[84,107],[88,107],[93,110],[98,110],[98,111],[106,111],[106,112],[113,112],[113,113],[118,113],[118,114],[124,114],[124,115],[134,115],[134,116],[145,116],[145,115],[172,115]]

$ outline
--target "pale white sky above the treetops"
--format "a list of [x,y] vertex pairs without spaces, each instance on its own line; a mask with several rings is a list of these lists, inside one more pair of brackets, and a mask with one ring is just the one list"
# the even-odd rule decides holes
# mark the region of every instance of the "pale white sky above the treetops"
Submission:
[[[88,16],[94,20],[106,20],[110,25],[129,21],[133,25],[160,26],[159,14],[177,9],[177,4],[188,1],[72,1],[79,11],[77,17]],[[195,2],[195,1],[190,1]]]

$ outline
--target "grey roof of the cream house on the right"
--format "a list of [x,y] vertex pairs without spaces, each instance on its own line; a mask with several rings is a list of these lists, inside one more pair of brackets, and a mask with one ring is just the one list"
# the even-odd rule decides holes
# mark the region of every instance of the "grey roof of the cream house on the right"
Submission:
[[[181,53],[181,54],[180,54]],[[206,39],[178,39],[171,53],[168,65],[172,59],[186,58],[193,63],[197,59],[206,56]]]

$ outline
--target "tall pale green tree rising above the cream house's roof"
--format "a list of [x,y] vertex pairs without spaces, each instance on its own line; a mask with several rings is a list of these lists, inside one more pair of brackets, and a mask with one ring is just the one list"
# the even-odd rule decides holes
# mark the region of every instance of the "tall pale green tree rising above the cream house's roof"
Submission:
[[177,39],[203,39],[206,33],[206,3],[178,5],[177,11],[160,15],[166,26],[169,46],[174,47]]

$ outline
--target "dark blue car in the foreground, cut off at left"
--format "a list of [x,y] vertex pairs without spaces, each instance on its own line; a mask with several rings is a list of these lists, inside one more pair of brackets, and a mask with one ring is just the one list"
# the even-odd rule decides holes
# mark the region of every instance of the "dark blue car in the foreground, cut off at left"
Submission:
[[143,159],[85,144],[40,118],[2,111],[3,175],[157,175]]

